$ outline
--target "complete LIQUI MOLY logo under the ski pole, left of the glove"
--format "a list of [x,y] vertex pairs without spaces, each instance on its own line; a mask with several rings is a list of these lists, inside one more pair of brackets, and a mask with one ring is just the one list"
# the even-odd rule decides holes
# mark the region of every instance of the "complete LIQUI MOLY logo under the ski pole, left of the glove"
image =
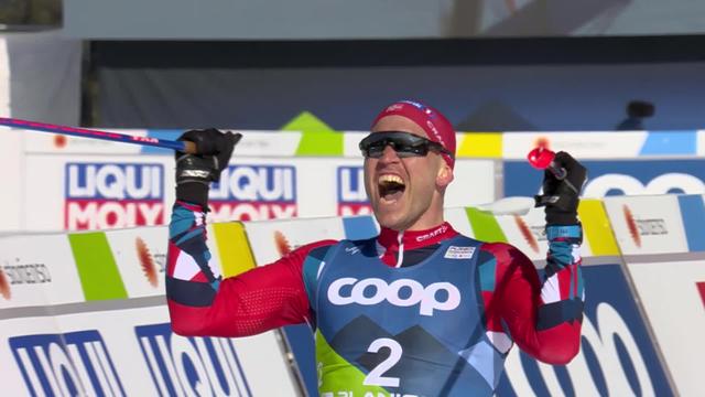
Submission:
[[106,229],[164,223],[164,168],[138,163],[67,163],[64,226]]

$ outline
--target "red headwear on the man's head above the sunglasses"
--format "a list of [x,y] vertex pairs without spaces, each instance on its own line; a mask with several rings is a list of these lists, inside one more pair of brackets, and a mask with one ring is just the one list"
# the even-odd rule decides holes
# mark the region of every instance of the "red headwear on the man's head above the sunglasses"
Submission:
[[[423,128],[426,132],[430,140],[441,143],[447,151],[455,155],[455,130],[451,121],[438,110],[414,100],[400,100],[388,106],[377,115],[375,121],[372,121],[372,126],[382,117],[394,115],[405,117],[419,125],[419,127]],[[441,155],[443,155],[445,162],[453,168],[455,159],[446,153],[441,153]]]

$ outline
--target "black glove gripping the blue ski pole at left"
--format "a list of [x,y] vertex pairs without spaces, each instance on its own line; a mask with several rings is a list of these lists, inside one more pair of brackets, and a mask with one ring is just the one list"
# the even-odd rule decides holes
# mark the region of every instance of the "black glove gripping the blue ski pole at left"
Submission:
[[176,200],[205,208],[209,184],[220,179],[240,138],[241,133],[223,133],[215,128],[188,130],[178,137],[194,142],[198,154],[176,152]]

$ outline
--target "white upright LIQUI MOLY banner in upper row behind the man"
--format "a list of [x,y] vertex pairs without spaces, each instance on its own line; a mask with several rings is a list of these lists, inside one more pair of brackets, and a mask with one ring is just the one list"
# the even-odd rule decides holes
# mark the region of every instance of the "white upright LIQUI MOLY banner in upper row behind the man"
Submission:
[[[494,160],[458,159],[446,206],[495,201],[495,168]],[[165,155],[33,153],[22,180],[25,201],[17,211],[28,230],[163,225],[174,201],[174,160]],[[371,213],[361,158],[236,157],[209,198],[209,222]]]

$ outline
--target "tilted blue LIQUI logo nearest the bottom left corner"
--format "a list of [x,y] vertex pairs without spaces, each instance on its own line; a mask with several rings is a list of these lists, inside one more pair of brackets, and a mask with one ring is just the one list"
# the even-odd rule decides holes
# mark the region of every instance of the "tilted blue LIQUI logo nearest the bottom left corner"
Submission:
[[98,331],[15,336],[9,343],[28,395],[126,395]]

